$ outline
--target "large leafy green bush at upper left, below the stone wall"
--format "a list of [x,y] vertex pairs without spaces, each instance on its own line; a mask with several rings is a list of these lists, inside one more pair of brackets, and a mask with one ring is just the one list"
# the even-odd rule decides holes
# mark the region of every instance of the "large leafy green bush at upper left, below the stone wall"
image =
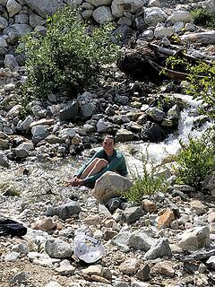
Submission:
[[98,78],[102,65],[115,61],[118,50],[110,41],[111,25],[90,28],[65,7],[47,19],[47,33],[22,38],[28,73],[25,92],[76,94]]

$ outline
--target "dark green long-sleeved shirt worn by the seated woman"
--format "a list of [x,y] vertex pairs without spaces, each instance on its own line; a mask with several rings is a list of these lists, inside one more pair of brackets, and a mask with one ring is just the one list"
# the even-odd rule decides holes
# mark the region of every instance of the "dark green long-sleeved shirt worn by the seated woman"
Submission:
[[117,150],[114,151],[113,155],[111,157],[107,156],[107,153],[104,151],[103,148],[101,148],[98,152],[96,152],[93,157],[87,161],[80,170],[78,170],[76,176],[78,178],[81,177],[83,170],[86,169],[86,167],[90,164],[91,161],[94,159],[104,159],[108,161],[107,167],[101,170],[100,172],[94,174],[93,176],[90,176],[89,178],[84,178],[84,184],[92,184],[94,183],[100,176],[102,176],[106,171],[114,171],[116,170],[121,176],[125,177],[128,173],[127,166],[125,162],[125,156],[122,152],[119,152]]

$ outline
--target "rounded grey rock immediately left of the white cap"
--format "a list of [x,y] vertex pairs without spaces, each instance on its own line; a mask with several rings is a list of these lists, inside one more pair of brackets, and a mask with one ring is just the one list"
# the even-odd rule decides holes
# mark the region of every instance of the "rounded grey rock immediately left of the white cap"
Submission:
[[45,251],[49,257],[66,258],[73,254],[70,244],[60,239],[48,239],[45,245]]

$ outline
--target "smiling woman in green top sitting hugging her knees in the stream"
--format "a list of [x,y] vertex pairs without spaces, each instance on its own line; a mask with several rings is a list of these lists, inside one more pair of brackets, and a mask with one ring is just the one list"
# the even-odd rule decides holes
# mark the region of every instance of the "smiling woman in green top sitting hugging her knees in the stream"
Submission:
[[115,171],[123,177],[128,173],[125,156],[115,149],[113,135],[104,137],[102,148],[78,170],[70,185],[73,187],[92,186],[106,171]]

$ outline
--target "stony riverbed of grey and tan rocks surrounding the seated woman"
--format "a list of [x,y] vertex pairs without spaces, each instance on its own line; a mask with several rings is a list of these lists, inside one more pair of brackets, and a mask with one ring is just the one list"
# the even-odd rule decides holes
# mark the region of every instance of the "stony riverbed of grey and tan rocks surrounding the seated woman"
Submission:
[[[189,109],[185,83],[137,81],[113,65],[100,85],[77,97],[50,93],[23,113],[17,88],[26,74],[16,41],[27,30],[45,32],[44,13],[64,3],[81,6],[84,19],[116,22],[116,33],[136,50],[151,41],[171,49],[172,35],[183,40],[200,33],[198,41],[209,42],[193,42],[188,52],[214,59],[214,31],[207,36],[190,14],[200,6],[214,11],[211,0],[0,1],[0,216],[27,227],[22,238],[0,236],[0,286],[215,286],[214,177],[202,194],[176,185],[173,169],[183,124],[189,126],[183,127],[186,136],[211,125],[209,117]],[[168,192],[144,196],[141,204],[121,197],[100,204],[90,188],[68,187],[107,133],[116,135],[133,170],[146,142],[152,143],[150,156],[160,160],[157,172],[167,178]],[[161,146],[165,156],[159,157]],[[90,265],[73,255],[74,237],[83,231],[105,248]]]

